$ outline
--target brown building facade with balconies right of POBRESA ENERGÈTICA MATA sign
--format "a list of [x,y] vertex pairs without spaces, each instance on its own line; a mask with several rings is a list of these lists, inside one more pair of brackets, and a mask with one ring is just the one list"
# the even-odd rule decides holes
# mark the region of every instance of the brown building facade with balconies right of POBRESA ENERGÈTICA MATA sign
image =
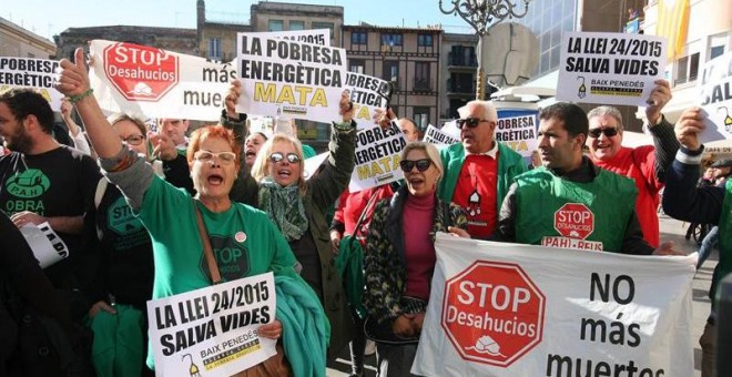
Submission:
[[441,29],[344,26],[348,71],[390,81],[390,106],[424,131],[439,120]]

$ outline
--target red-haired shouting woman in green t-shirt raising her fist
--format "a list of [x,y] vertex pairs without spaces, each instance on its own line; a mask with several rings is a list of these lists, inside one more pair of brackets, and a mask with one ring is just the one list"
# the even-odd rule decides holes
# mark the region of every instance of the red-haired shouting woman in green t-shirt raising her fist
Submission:
[[[323,309],[309,304],[316,296],[295,271],[295,256],[266,214],[228,197],[240,167],[241,143],[220,126],[204,126],[192,134],[186,154],[197,192],[192,198],[155,176],[143,157],[121,143],[90,89],[83,49],[77,49],[74,58],[74,63],[61,60],[55,88],[72,98],[106,177],[120,187],[153,240],[153,298],[214,283],[203,253],[202,236],[207,233],[222,281],[274,273],[277,312],[257,334],[272,339],[285,335],[282,345],[284,354],[292,355],[287,359],[293,374],[323,374],[327,323]],[[197,216],[206,232],[199,228]],[[215,252],[223,249],[235,249],[241,257]],[[150,351],[148,365],[153,365]]]

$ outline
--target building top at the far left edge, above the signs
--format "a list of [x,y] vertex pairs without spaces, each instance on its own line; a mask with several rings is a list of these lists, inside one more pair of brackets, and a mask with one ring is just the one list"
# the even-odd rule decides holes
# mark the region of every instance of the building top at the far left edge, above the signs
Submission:
[[0,17],[0,57],[50,59],[55,57],[55,45]]

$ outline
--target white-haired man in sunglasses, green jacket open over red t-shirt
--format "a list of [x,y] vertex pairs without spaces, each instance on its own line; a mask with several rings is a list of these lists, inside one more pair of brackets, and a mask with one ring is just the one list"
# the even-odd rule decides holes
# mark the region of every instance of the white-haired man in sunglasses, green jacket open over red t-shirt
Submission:
[[498,113],[492,102],[470,101],[458,113],[461,143],[440,151],[439,197],[466,211],[471,237],[488,238],[511,181],[527,167],[520,154],[494,139]]

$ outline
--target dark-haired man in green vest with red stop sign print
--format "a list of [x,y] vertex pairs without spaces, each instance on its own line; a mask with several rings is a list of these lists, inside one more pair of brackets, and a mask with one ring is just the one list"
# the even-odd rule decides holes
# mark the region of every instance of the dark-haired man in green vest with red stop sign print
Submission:
[[[576,104],[539,114],[543,166],[514,180],[498,215],[498,241],[651,254],[636,215],[632,180],[597,167],[582,155],[589,123]],[[668,247],[664,247],[667,249]]]

